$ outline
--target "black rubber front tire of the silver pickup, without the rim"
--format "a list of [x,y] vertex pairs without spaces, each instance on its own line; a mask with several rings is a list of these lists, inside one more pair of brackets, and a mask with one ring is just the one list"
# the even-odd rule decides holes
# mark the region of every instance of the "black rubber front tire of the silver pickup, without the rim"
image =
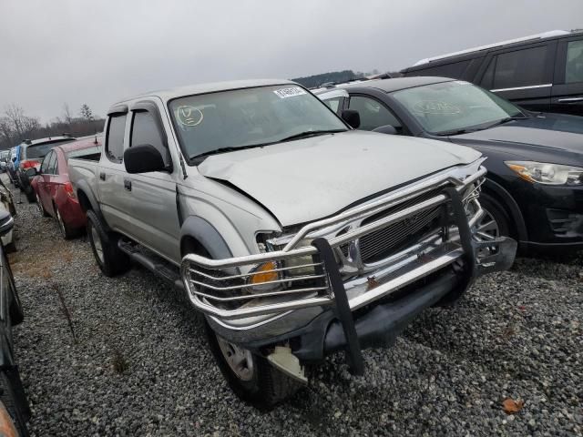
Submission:
[[271,366],[267,359],[256,354],[251,354],[251,379],[243,381],[231,370],[225,355],[220,350],[217,334],[210,328],[206,320],[205,333],[209,341],[210,351],[215,361],[217,361],[220,372],[229,383],[231,390],[241,400],[251,403],[251,405],[260,410],[270,410],[302,388],[300,382],[292,380],[292,378]]

